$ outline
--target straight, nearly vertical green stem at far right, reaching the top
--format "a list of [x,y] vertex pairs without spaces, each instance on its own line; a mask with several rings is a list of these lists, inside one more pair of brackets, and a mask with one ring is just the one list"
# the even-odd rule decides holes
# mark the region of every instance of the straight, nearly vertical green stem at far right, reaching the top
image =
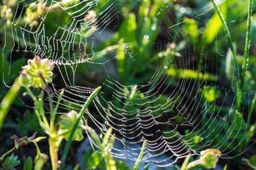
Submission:
[[248,16],[247,16],[247,31],[246,31],[246,40],[245,40],[245,55],[244,60],[242,63],[242,77],[240,83],[240,93],[238,94],[238,110],[241,104],[242,98],[242,90],[245,83],[245,73],[247,70],[247,63],[248,63],[248,56],[249,56],[249,49],[250,49],[250,30],[252,25],[252,0],[249,0],[248,6]]

